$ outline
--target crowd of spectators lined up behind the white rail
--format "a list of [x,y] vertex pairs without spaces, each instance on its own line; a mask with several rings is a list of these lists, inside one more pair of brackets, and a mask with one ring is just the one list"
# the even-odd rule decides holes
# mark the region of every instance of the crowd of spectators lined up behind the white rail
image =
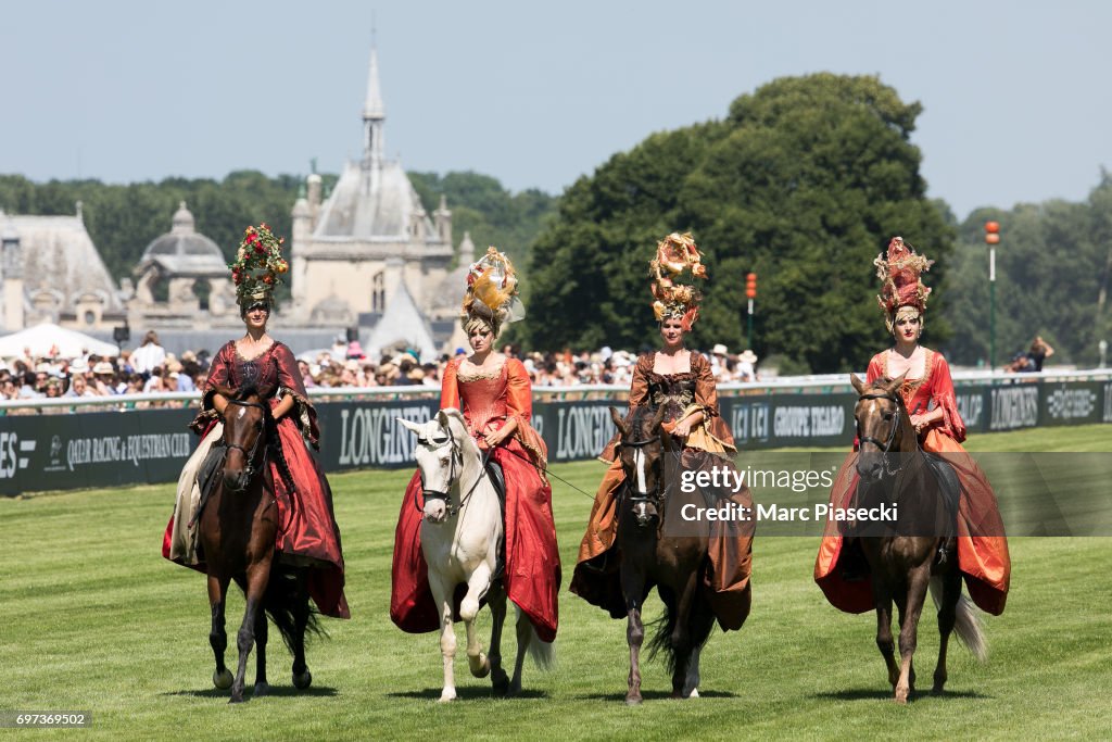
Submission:
[[[627,350],[522,353],[513,345],[502,348],[525,366],[534,386],[572,387],[587,384],[613,384],[628,387],[637,356]],[[454,355],[465,354],[457,348]],[[756,380],[752,352],[732,355],[723,345],[707,354],[716,380]],[[106,397],[129,394],[195,392],[208,379],[210,354],[207,350],[167,353],[158,335],[149,332],[142,344],[118,356],[82,354],[63,358],[57,350],[34,356],[26,348],[21,357],[0,360],[0,398]],[[421,362],[415,350],[399,349],[370,358],[358,342],[337,338],[332,348],[302,354],[298,367],[306,387],[428,386],[439,388],[444,368],[451,355],[436,362]],[[136,406],[180,406],[180,400],[140,402]],[[63,409],[59,407],[58,409]]]

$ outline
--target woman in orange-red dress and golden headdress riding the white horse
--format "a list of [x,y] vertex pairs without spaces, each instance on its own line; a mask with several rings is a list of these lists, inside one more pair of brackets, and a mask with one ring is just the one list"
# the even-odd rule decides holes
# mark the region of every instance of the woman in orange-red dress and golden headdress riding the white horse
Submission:
[[[440,408],[464,414],[479,448],[489,453],[506,482],[506,592],[546,642],[556,637],[559,550],[545,479],[547,449],[529,424],[533,396],[529,375],[516,358],[495,353],[494,342],[516,304],[516,278],[505,255],[489,248],[471,266],[461,323],[474,352],[457,357],[444,372]],[[414,506],[421,491],[415,473],[401,501],[394,536],[390,619],[411,633],[436,631],[439,615],[428,586],[420,547],[421,512]]]

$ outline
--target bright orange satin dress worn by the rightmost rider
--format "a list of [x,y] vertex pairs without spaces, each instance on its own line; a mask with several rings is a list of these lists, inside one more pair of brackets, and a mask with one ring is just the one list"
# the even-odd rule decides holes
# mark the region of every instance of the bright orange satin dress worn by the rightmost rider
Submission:
[[[923,377],[905,380],[900,394],[912,413],[916,407],[920,412],[932,407],[942,408],[942,418],[920,433],[920,445],[923,451],[943,454],[957,473],[962,484],[957,508],[957,563],[973,602],[981,610],[1000,615],[1007,601],[1012,566],[996,495],[984,472],[961,445],[965,441],[965,423],[957,413],[950,365],[941,353],[926,349],[926,354]],[[887,373],[887,352],[876,354],[868,363],[866,380],[872,384],[880,378],[892,378]],[[846,457],[834,479],[831,488],[832,505],[850,505],[857,489],[856,464],[857,452],[854,451]],[[842,611],[864,613],[872,610],[874,606],[870,581],[842,580],[838,568],[841,552],[838,524],[828,522],[815,560],[815,582],[826,600]]]

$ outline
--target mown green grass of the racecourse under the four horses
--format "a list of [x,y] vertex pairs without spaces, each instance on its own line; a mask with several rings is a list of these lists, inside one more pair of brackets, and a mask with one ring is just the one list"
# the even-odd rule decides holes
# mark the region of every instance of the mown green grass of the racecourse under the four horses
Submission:
[[[1112,426],[970,443],[1110,452]],[[554,471],[593,492],[602,465]],[[203,577],[160,555],[171,485],[0,498],[0,711],[91,711],[89,730],[42,734],[111,739],[1091,739],[1112,730],[1112,540],[1095,537],[1013,538],[1007,611],[985,621],[989,662],[954,646],[949,693],[921,692],[907,706],[890,700],[872,614],[840,613],[814,585],[817,538],[759,535],[753,613],[741,632],[711,637],[703,698],[668,700],[657,662],[643,667],[644,705],[626,708],[625,622],[565,591],[554,671],[527,665],[524,698],[493,700],[489,682],[467,673],[460,642],[460,700],[438,704],[436,635],[405,634],[387,615],[407,477],[331,477],[353,620],[325,621],[330,639],[310,645],[314,685],[305,693],[294,692],[289,655],[272,634],[272,695],[238,706],[210,681]],[[566,586],[590,501],[558,481],[554,491]],[[237,594],[232,645],[241,611]],[[658,613],[654,598],[646,615]],[[486,612],[480,623],[486,633]],[[934,621],[924,616],[916,657],[926,687],[936,651]]]

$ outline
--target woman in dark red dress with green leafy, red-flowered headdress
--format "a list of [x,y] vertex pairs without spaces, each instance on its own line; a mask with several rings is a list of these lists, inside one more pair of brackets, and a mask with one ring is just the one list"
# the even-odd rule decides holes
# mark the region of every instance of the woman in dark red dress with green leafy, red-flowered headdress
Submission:
[[[279,240],[266,225],[249,227],[245,243],[248,249],[254,249],[256,243],[264,244],[277,254],[275,259],[280,260]],[[242,260],[242,246],[240,250]],[[235,269],[232,276],[237,277]],[[205,571],[203,554],[197,552],[197,525],[191,522],[200,494],[197,471],[224,429],[221,421],[228,400],[216,387],[238,389],[254,385],[272,388],[267,404],[278,424],[282,456],[295,484],[290,491],[278,472],[278,464],[272,457],[268,458],[278,501],[278,523],[281,524],[276,544],[278,557],[309,566],[309,595],[317,609],[325,615],[347,619],[350,614],[344,596],[344,554],[332,513],[332,493],[308,445],[319,448],[317,413],[305,396],[305,383],[298,373],[294,353],[267,333],[270,285],[252,286],[249,278],[240,278],[236,283],[241,288],[251,289],[238,293],[240,316],[247,333],[238,340],[227,343],[212,358],[208,382],[202,389],[201,409],[191,424],[193,431],[202,436],[201,443],[186,463],[178,482],[178,498],[162,538],[162,555],[178,564]]]

